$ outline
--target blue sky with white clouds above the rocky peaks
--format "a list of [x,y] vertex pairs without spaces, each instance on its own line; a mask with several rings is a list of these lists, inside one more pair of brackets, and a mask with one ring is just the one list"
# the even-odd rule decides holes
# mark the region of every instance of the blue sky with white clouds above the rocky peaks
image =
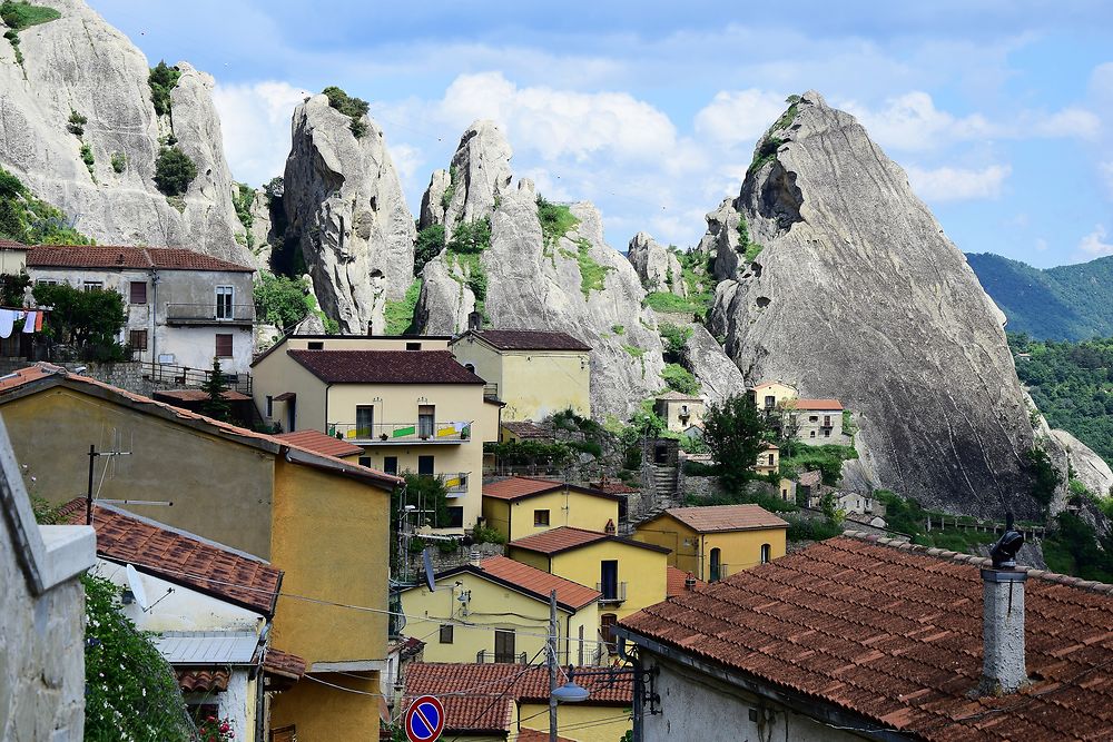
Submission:
[[282,175],[289,120],[371,103],[411,211],[460,135],[498,121],[551,200],[609,244],[696,245],[754,145],[815,89],[854,113],[967,253],[1113,255],[1113,3],[90,0],[151,65],[211,73],[234,176]]

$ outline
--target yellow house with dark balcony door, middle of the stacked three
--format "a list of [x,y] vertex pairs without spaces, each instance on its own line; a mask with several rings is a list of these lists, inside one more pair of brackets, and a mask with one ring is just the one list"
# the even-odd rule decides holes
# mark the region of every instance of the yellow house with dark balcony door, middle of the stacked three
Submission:
[[668,596],[666,546],[562,526],[510,542],[508,554],[602,593],[599,624],[607,641],[615,621]]

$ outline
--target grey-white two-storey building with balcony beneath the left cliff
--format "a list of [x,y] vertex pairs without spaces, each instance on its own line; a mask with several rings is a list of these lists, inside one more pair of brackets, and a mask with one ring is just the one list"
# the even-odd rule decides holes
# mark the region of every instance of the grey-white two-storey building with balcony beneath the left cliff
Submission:
[[35,284],[118,291],[127,316],[120,344],[168,378],[210,369],[213,358],[234,382],[248,373],[255,268],[175,247],[38,245],[26,270]]

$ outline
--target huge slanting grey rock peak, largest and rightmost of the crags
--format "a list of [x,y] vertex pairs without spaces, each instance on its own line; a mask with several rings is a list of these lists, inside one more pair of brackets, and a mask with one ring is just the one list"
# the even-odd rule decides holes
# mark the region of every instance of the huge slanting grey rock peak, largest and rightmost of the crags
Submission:
[[1021,494],[1032,424],[995,307],[851,116],[805,95],[708,220],[726,279],[710,329],[748,382],[841,399],[883,486],[954,512],[1037,515]]

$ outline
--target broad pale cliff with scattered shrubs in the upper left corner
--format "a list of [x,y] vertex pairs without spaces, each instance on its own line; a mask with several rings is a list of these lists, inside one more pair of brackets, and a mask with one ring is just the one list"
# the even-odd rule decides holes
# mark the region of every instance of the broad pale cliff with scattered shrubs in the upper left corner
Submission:
[[[155,112],[142,52],[81,0],[37,4],[61,18],[19,32],[22,66],[0,42],[0,165],[102,244],[181,246],[253,265],[235,239],[244,228],[232,204],[213,78],[178,63],[173,133],[197,165],[179,211],[152,180],[171,117]],[[67,128],[73,112],[87,119],[80,137]],[[91,174],[82,144],[92,151]]]

